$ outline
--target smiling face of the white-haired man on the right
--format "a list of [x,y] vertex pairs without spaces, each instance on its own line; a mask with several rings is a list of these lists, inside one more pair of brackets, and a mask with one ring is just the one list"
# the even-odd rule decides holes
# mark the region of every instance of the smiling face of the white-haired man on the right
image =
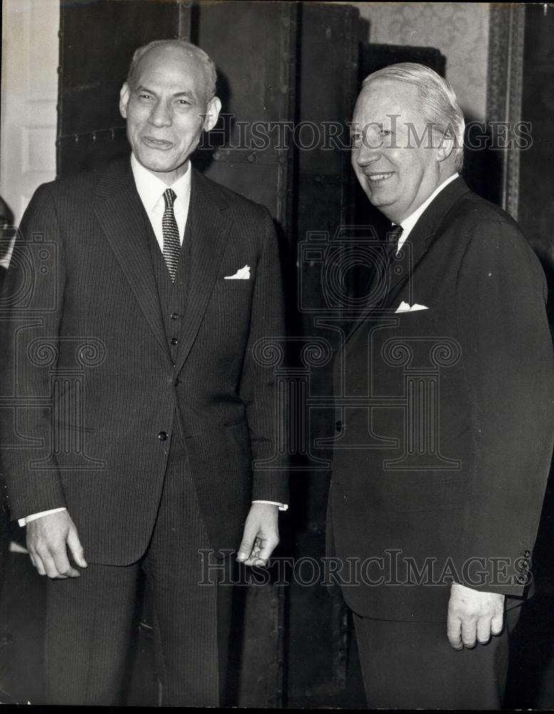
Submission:
[[453,174],[449,154],[426,131],[415,86],[389,79],[364,86],[352,118],[352,166],[390,221],[404,221]]

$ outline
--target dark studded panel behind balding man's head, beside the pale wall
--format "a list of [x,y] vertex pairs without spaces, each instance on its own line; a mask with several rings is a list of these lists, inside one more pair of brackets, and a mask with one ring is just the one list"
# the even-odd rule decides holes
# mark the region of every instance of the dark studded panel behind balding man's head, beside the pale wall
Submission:
[[128,154],[118,106],[133,51],[189,34],[190,2],[183,0],[61,1],[58,176]]

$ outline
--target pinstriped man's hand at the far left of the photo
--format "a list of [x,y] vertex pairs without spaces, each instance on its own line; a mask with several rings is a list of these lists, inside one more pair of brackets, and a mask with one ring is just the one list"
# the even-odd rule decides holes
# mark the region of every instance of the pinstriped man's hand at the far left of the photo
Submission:
[[27,549],[31,563],[39,575],[48,578],[78,578],[81,573],[69,563],[67,549],[80,568],[86,568],[87,562],[77,529],[67,511],[51,513],[31,521],[27,526]]

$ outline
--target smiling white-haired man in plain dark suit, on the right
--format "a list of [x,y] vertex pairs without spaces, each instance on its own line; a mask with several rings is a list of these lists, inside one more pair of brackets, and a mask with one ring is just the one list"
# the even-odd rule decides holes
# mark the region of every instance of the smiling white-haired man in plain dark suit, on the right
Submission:
[[458,175],[463,129],[418,64],[354,110],[354,171],[393,226],[336,363],[329,535],[371,707],[501,705],[553,448],[543,272]]

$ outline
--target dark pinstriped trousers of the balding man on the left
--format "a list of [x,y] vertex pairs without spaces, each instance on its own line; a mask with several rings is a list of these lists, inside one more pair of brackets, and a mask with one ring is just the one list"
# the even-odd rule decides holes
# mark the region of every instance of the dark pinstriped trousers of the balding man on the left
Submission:
[[232,587],[218,587],[215,578],[198,585],[204,575],[198,551],[210,544],[185,464],[183,447],[172,443],[158,518],[138,563],[91,563],[80,578],[48,580],[51,703],[120,703],[140,570],[153,603],[163,705],[220,703],[218,655],[226,663]]

